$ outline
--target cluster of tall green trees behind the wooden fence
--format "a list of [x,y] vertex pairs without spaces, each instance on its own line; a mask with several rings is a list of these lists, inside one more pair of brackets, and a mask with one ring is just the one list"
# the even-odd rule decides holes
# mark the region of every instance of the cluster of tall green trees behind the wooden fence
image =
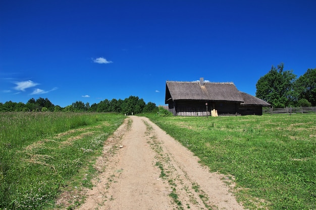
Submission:
[[293,70],[284,71],[283,63],[272,65],[257,81],[255,96],[276,108],[316,106],[316,68],[297,78]]

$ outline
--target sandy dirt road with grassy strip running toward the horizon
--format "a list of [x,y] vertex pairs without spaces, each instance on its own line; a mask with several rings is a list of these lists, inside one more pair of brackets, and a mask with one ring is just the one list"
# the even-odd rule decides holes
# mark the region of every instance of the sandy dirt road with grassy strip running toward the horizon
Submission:
[[224,176],[145,117],[129,117],[95,167],[100,176],[79,209],[244,209]]

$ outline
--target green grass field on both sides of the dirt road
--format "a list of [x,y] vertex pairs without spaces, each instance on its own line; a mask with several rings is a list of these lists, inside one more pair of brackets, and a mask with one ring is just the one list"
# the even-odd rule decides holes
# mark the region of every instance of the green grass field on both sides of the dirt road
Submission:
[[[315,114],[147,116],[210,170],[231,175],[246,207],[316,209]],[[0,209],[55,209],[62,191],[92,187],[94,160],[123,120],[103,113],[0,113]]]

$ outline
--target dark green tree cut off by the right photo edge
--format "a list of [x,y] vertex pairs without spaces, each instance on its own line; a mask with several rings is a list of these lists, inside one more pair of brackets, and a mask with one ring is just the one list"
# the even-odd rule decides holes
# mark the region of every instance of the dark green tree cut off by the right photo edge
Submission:
[[297,79],[295,90],[299,99],[306,99],[311,106],[316,106],[316,68],[308,68],[306,73]]

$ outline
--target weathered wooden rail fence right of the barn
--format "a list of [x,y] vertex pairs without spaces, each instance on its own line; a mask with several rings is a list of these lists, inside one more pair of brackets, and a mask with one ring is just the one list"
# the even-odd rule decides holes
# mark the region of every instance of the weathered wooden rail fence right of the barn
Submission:
[[268,114],[316,113],[316,107],[286,107],[286,108],[263,107],[262,113],[268,113]]

